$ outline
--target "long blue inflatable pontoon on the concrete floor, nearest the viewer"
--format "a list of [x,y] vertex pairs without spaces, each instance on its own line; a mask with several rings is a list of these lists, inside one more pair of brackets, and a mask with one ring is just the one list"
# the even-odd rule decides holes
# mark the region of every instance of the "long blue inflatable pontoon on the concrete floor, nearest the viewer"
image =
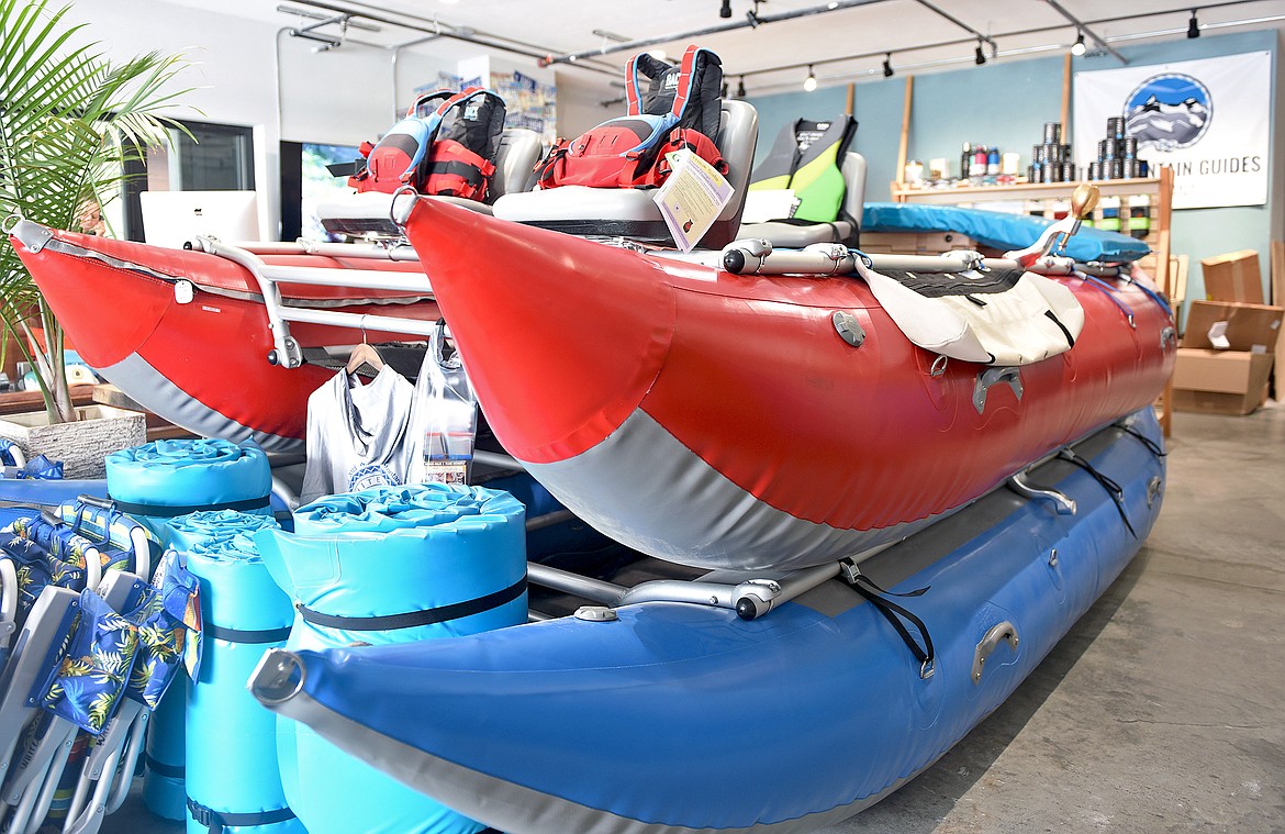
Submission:
[[1148,409],[860,564],[585,577],[576,616],[269,652],[252,691],[510,834],[813,830],[932,765],[1114,581],[1160,510],[1160,442]]

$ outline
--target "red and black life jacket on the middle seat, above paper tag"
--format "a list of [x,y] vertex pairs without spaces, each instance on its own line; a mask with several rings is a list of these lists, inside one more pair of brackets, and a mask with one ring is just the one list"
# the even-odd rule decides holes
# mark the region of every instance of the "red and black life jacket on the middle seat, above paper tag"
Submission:
[[625,72],[627,116],[571,141],[559,139],[536,166],[538,188],[654,188],[669,176],[666,154],[678,148],[690,148],[726,173],[713,141],[721,94],[722,62],[708,49],[687,46],[677,66],[635,55]]

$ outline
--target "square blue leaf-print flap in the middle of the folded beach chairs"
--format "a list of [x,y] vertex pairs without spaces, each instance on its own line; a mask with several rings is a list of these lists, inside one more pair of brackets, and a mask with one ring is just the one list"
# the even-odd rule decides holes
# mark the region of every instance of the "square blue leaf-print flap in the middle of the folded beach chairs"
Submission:
[[100,734],[116,713],[137,653],[139,628],[93,591],[81,591],[67,650],[32,696],[81,730]]

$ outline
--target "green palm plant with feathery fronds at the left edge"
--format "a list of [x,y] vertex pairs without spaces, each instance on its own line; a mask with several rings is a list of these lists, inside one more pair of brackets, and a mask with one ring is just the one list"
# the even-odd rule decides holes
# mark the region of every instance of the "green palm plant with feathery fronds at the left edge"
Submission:
[[[0,220],[21,216],[72,231],[98,225],[121,195],[125,163],[163,144],[170,91],[186,62],[149,53],[108,60],[98,44],[76,45],[84,24],[69,5],[0,0]],[[5,229],[9,226],[5,225]],[[32,364],[50,421],[76,419],[63,364],[63,330],[8,235],[0,235],[0,335]],[[44,344],[33,337],[44,329]],[[3,339],[0,339],[3,341]]]

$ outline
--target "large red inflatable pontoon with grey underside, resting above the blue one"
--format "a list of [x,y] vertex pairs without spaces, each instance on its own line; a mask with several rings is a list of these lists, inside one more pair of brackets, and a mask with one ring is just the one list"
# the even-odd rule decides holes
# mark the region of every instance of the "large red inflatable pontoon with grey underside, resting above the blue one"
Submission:
[[604,533],[700,567],[896,541],[1153,402],[1174,356],[1142,279],[1056,279],[1074,347],[995,368],[916,347],[856,276],[732,275],[424,199],[406,233],[504,447]]

